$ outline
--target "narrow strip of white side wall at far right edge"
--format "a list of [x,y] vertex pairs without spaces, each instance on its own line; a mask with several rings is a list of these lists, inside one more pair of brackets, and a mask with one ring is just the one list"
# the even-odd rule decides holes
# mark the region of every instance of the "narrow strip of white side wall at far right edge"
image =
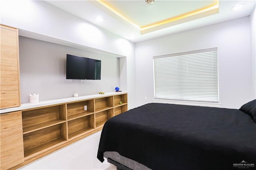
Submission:
[[253,94],[256,99],[256,6],[250,14]]

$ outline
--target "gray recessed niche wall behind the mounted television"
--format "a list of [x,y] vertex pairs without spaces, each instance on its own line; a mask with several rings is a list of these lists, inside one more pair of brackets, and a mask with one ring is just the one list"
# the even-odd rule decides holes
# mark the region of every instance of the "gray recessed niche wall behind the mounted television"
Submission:
[[[21,103],[114,91],[120,86],[119,58],[19,36]],[[101,60],[101,80],[66,79],[66,54]]]

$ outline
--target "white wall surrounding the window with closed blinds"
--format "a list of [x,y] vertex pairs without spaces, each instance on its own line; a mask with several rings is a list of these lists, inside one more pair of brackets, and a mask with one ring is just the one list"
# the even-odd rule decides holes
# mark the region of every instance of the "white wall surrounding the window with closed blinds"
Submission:
[[252,100],[250,18],[247,16],[136,43],[138,105],[154,99],[153,56],[213,47],[218,47],[221,107],[240,108]]

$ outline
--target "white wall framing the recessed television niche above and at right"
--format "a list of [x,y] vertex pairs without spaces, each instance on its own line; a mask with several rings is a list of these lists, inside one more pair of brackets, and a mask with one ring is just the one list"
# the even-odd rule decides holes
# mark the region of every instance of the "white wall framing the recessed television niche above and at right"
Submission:
[[[14,3],[15,5],[13,5]],[[120,69],[120,85],[122,85],[122,90],[129,91],[129,109],[136,106],[133,42],[101,29],[44,1],[1,1],[1,24],[89,47],[92,50],[100,49],[126,56],[126,61],[122,59],[122,64],[120,65],[120,67],[123,66],[124,68]],[[32,35],[30,38],[37,38],[34,36],[36,34],[30,34]],[[21,89],[21,91],[23,90]],[[59,90],[56,93],[62,93],[62,91]]]

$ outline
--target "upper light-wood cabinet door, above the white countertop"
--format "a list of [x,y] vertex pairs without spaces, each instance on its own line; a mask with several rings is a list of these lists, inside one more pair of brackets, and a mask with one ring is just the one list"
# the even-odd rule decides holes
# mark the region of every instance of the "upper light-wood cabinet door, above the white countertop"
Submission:
[[18,30],[1,25],[0,109],[20,106]]

